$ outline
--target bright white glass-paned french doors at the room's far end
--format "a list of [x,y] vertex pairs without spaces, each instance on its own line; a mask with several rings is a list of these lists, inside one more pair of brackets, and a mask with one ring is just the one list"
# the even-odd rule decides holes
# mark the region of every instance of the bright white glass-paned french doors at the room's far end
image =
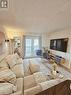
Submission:
[[25,37],[25,57],[35,57],[36,50],[41,48],[40,37]]

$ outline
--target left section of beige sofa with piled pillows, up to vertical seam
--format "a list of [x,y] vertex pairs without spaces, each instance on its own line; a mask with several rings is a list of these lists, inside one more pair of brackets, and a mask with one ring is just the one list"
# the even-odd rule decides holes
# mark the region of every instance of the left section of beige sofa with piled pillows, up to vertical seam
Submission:
[[23,60],[17,54],[0,61],[0,95],[23,95],[23,79]]

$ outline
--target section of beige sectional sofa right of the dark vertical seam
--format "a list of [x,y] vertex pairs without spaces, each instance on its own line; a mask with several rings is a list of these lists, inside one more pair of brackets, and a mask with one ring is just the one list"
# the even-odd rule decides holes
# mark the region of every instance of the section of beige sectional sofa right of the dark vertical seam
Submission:
[[36,95],[58,83],[62,79],[49,79],[50,71],[37,59],[24,60],[24,95]]

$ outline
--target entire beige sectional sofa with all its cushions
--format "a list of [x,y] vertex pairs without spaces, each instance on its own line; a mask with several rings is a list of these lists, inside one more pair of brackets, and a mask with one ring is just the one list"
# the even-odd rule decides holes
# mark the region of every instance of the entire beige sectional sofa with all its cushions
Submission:
[[40,60],[8,55],[0,61],[0,95],[36,95],[63,81],[49,80],[49,74]]

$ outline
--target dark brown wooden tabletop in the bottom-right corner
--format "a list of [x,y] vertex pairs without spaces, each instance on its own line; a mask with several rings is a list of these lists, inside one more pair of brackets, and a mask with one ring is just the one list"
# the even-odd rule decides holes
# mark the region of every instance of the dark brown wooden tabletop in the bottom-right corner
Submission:
[[71,80],[66,80],[36,95],[71,95]]

